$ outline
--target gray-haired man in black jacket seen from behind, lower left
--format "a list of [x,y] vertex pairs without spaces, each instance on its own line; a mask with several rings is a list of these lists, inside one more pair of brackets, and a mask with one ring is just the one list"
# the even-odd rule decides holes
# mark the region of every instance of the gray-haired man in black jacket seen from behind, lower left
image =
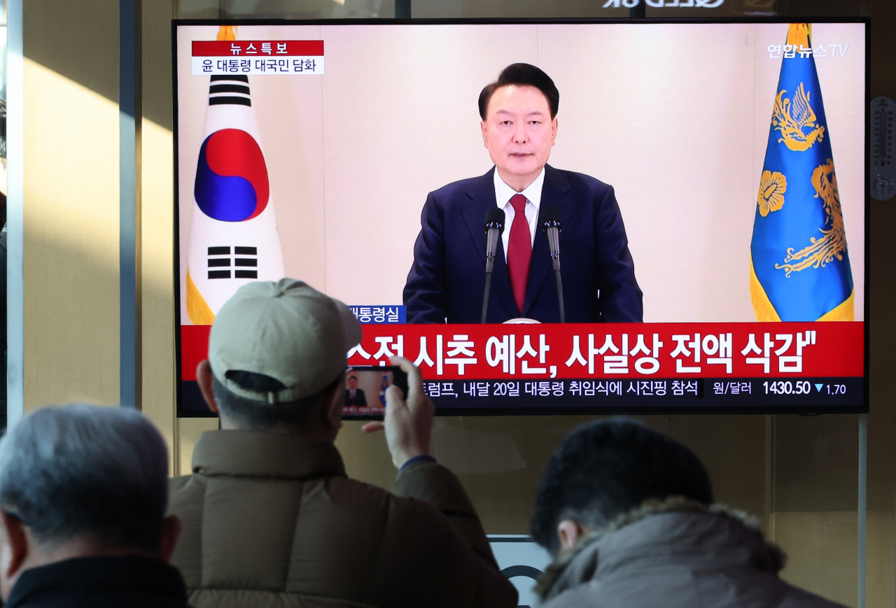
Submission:
[[186,608],[168,450],[142,414],[45,407],[0,440],[6,608]]

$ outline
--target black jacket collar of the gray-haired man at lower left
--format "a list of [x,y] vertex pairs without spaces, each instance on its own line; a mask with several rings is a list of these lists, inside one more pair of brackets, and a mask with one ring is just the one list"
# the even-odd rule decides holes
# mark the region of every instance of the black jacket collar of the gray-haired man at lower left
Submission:
[[27,569],[16,581],[6,606],[40,604],[40,600],[50,597],[103,595],[168,597],[170,604],[159,605],[186,606],[180,572],[167,563],[140,555],[79,557]]

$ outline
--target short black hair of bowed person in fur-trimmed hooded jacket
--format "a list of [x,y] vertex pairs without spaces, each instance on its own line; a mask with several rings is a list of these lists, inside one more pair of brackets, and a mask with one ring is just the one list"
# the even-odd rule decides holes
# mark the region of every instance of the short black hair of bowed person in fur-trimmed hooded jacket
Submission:
[[710,475],[694,452],[631,419],[582,424],[547,463],[535,498],[532,537],[556,554],[556,527],[562,520],[594,530],[644,501],[671,496],[711,504]]

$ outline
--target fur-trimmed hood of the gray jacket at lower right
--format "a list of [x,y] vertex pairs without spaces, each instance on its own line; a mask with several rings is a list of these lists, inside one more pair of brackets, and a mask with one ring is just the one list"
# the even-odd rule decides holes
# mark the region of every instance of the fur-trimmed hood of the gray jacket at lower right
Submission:
[[[645,501],[607,527],[580,539],[538,579],[543,602],[623,568],[642,568],[662,556],[702,569],[736,564],[777,575],[787,556],[762,538],[759,522],[725,505],[703,505],[681,496]],[[700,563],[698,563],[700,562]]]

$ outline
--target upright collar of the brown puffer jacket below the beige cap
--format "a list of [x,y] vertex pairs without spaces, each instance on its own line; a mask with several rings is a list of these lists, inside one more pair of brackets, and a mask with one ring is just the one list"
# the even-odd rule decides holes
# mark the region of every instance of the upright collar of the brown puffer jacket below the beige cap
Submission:
[[203,432],[193,451],[193,472],[291,480],[346,476],[339,450],[329,441],[260,431]]

